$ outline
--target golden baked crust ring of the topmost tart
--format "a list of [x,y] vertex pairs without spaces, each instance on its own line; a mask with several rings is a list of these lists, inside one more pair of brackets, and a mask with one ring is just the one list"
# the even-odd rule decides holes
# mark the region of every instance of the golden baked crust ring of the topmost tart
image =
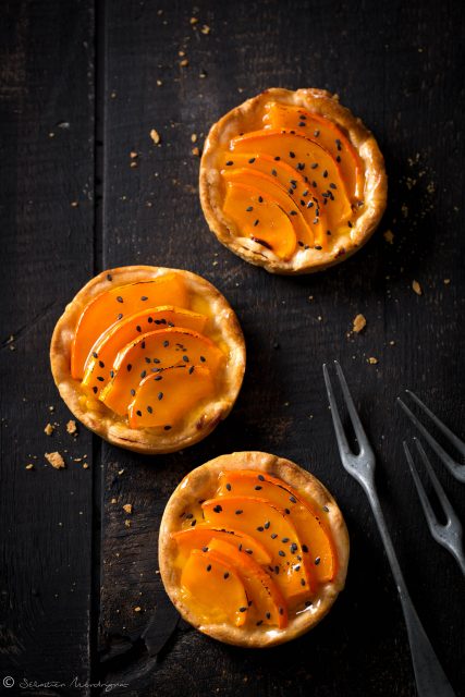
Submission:
[[[335,237],[330,239],[330,244],[325,244],[322,248],[318,248],[318,244],[304,245],[298,242],[301,246],[296,247],[290,258],[280,258],[273,253],[272,248],[264,246],[260,240],[255,242],[254,240],[259,237],[258,232],[257,237],[253,236],[255,232],[253,234],[241,232],[236,221],[228,217],[223,210],[224,182],[221,167],[224,162],[221,163],[221,154],[229,149],[232,138],[242,134],[257,132],[264,127],[262,118],[270,102],[277,102],[279,106],[284,105],[290,108],[301,108],[329,120],[332,125],[335,124],[343,133],[342,137],[346,138],[346,142],[350,143],[356,154],[365,178],[362,196],[363,205],[358,203],[360,207],[356,211],[353,224],[351,223],[352,227],[347,227],[346,230],[342,231],[338,230]],[[294,133],[294,131],[291,131],[291,133]],[[231,159],[234,159],[234,152],[231,152]],[[270,159],[272,160],[273,158]],[[252,159],[249,162],[252,162]],[[293,164],[295,167],[296,160],[293,161]],[[302,173],[308,174],[308,167]],[[311,184],[311,178],[309,179],[309,184]],[[321,186],[319,188],[321,189]],[[355,118],[348,109],[340,105],[338,95],[315,88],[297,89],[296,91],[270,88],[232,109],[211,126],[200,161],[199,191],[201,207],[208,225],[223,245],[246,261],[262,266],[270,272],[297,274],[320,271],[339,264],[354,254],[369,240],[386,209],[388,182],[384,160],[374,135],[366,129],[360,119]],[[330,189],[328,192],[329,196],[335,193]],[[310,191],[310,195],[311,193],[315,192]],[[304,203],[306,204],[307,199],[301,201],[302,205]],[[298,200],[296,200],[296,204],[298,209]],[[328,206],[329,208],[330,206]],[[303,212],[305,215],[306,211],[303,210]],[[297,210],[297,212],[291,215],[297,216],[299,211]],[[296,218],[289,220],[295,222]],[[289,221],[286,221],[287,223]],[[259,228],[257,228],[258,230]]]

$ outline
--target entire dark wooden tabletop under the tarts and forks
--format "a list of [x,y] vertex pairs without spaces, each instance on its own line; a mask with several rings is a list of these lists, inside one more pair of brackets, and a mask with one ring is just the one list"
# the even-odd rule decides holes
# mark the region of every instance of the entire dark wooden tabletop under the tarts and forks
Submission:
[[[464,696],[463,578],[427,531],[402,454],[412,430],[394,403],[412,388],[464,436],[463,3],[15,0],[2,3],[0,24],[0,685],[15,680],[4,694],[100,694],[86,686],[99,681],[119,684],[114,695],[154,697],[415,694],[388,562],[336,453],[321,364],[339,358],[379,456],[382,506],[413,599]],[[191,135],[201,147],[219,115],[270,86],[336,91],[387,160],[379,231],[314,277],[274,278],[241,261],[199,207]],[[127,264],[205,276],[244,328],[238,402],[182,453],[144,457],[84,428],[66,432],[49,371],[53,325],[93,274]],[[358,313],[367,328],[350,334]],[[157,574],[175,485],[212,456],[249,449],[320,477],[352,540],[331,614],[269,651],[176,624]],[[44,457],[57,450],[61,472]],[[435,466],[464,519],[463,487]],[[23,680],[37,686],[21,688]]]

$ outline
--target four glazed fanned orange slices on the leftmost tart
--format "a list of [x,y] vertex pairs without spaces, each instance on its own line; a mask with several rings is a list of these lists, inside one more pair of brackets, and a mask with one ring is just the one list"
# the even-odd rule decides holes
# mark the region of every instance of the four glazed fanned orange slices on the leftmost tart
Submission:
[[112,286],[84,307],[71,369],[82,389],[131,428],[171,430],[215,400],[227,356],[189,308],[180,274]]

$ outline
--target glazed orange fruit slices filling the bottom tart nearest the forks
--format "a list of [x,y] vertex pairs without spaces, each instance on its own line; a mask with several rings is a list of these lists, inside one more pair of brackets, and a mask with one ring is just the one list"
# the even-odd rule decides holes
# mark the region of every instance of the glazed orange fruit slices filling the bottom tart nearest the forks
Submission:
[[[199,502],[195,514],[186,512],[182,529],[171,534],[179,549],[176,565],[184,570],[181,587],[186,602],[201,610],[206,622],[221,615],[221,621],[235,626],[285,627],[289,612],[311,604],[318,588],[335,576],[336,554],[325,523],[328,512],[328,506],[269,474],[222,473],[216,496]],[[224,577],[209,575],[213,561],[197,564],[199,553],[206,561],[221,562],[221,568],[228,566],[228,573],[234,571],[247,599],[244,621],[234,604],[237,596],[225,608]],[[209,600],[204,606],[206,587]],[[196,588],[203,589],[199,597]]]

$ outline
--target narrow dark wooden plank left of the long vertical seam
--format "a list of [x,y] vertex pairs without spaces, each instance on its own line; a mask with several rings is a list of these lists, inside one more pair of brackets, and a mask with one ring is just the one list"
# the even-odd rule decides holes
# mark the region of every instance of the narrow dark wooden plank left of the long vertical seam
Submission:
[[[65,4],[2,7],[1,689],[5,675],[90,675],[91,438],[66,432],[48,359],[54,321],[94,271],[93,3]],[[87,470],[73,462],[84,454]]]

